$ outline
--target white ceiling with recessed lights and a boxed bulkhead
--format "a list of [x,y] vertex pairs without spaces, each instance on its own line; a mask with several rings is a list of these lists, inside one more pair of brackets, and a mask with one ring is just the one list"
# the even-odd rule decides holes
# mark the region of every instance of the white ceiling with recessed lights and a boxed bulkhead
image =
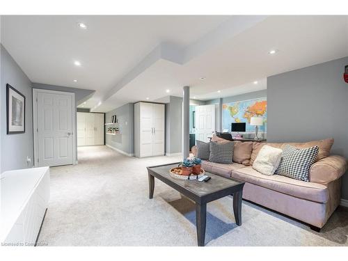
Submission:
[[[166,89],[181,96],[182,86],[191,86],[197,100],[261,90],[270,75],[348,56],[347,35],[347,16],[6,16],[1,21],[1,42],[31,81],[97,90],[85,105],[95,111],[146,97],[158,100],[168,95]],[[278,52],[271,56],[270,49]]]

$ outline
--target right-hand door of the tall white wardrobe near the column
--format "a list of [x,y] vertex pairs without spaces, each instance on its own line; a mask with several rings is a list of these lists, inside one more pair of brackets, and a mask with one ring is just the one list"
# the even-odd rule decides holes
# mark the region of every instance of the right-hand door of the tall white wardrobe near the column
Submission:
[[164,105],[152,104],[152,155],[164,155]]

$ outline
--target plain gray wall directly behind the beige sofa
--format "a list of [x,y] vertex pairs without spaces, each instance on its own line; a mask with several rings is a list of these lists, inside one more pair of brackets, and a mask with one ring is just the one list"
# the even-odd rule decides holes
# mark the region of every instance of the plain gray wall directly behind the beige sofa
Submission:
[[[333,137],[331,153],[348,158],[348,57],[267,78],[267,139],[311,141]],[[348,175],[342,198],[348,199]]]

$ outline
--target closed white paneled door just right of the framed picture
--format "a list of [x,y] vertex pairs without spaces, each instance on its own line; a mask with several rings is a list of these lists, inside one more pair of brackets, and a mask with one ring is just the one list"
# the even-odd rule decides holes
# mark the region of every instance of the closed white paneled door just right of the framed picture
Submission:
[[71,93],[37,91],[35,110],[35,136],[38,166],[73,164],[74,141],[72,138]]

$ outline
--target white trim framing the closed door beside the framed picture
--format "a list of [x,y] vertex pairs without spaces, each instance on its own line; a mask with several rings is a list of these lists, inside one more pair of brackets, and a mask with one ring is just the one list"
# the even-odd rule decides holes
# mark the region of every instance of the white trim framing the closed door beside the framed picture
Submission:
[[34,162],[33,166],[38,167],[38,132],[36,129],[38,128],[38,103],[36,99],[38,98],[38,93],[56,93],[56,94],[64,94],[70,95],[72,97],[72,164],[77,164],[77,143],[75,139],[75,135],[77,135],[77,127],[76,127],[76,111],[75,108],[75,93],[61,92],[58,90],[44,90],[44,89],[36,89],[33,88],[33,136],[34,136]]

